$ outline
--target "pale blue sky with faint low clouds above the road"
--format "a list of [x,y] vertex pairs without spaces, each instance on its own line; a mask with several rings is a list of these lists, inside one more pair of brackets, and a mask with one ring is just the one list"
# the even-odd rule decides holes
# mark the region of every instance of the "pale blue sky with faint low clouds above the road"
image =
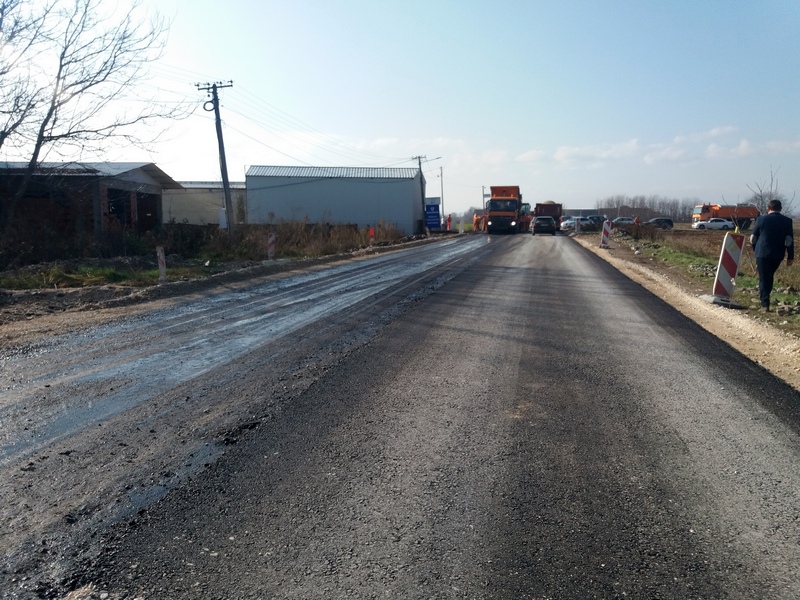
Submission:
[[[254,165],[417,167],[445,213],[616,195],[800,192],[798,0],[143,0],[169,23],[150,86],[192,107],[148,151],[178,181]],[[800,204],[798,201],[796,204]]]

